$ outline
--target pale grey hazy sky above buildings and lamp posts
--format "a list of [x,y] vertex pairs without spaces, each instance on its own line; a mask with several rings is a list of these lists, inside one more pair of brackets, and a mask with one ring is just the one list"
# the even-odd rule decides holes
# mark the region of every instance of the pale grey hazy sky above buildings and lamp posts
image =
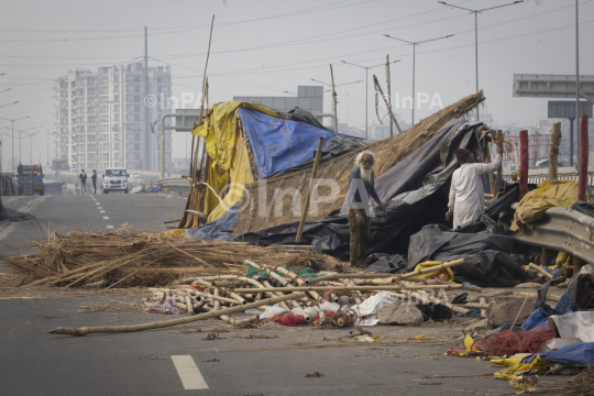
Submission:
[[[470,9],[512,0],[451,0]],[[150,66],[172,66],[173,94],[198,95],[212,14],[216,15],[208,66],[211,101],[233,96],[285,96],[298,85],[365,79],[364,66],[392,65],[392,91],[411,94],[413,47],[384,37],[447,40],[417,47],[418,92],[439,94],[444,106],[475,91],[474,16],[433,0],[1,0],[0,117],[16,129],[37,127],[33,156],[46,157],[46,133],[54,129],[53,80],[68,70],[91,69],[140,59],[148,26]],[[580,0],[580,73],[594,75],[594,0]],[[575,1],[526,0],[479,15],[480,86],[486,112],[498,122],[528,125],[547,118],[547,99],[513,98],[514,74],[575,74]],[[385,68],[370,70],[370,123],[375,118],[372,75],[385,89]],[[365,84],[339,87],[339,120],[365,122]],[[330,94],[324,98],[330,111]],[[433,111],[437,109],[433,109]],[[416,120],[432,111],[425,106]],[[410,121],[410,110],[396,110]],[[0,129],[10,122],[0,120]],[[8,130],[6,130],[8,131]],[[8,139],[7,139],[8,138]],[[29,142],[23,140],[23,161]],[[53,147],[52,139],[50,140]],[[10,138],[2,139],[3,158]],[[15,140],[15,147],[19,141]],[[185,155],[185,135],[174,136],[174,157]],[[18,156],[18,155],[16,155]]]

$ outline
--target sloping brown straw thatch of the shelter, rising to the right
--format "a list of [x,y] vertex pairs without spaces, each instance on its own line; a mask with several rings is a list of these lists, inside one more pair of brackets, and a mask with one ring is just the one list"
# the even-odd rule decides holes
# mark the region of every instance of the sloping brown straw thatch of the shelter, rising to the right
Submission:
[[[483,100],[483,92],[479,91],[424,119],[411,129],[396,136],[365,146],[377,156],[377,165],[374,170],[377,183],[384,173],[408,158],[410,154],[435,138],[450,120],[463,117]],[[320,201],[317,205],[317,212],[314,210],[308,212],[308,221],[321,220],[342,207],[349,186],[349,174],[354,166],[353,161],[362,150],[352,151],[319,166],[318,178],[338,183],[338,190],[336,191],[331,191],[329,186],[320,187],[319,196],[329,198],[331,193],[336,193],[334,197],[338,199],[332,197],[332,199]],[[449,155],[453,158],[453,152],[449,153]],[[432,158],[436,161],[436,157]],[[437,154],[437,158],[440,158],[440,153]],[[306,194],[308,194],[310,177],[311,168],[307,168],[287,176],[267,179],[265,185],[252,184],[250,186],[250,207],[240,213],[240,222],[234,233],[242,234],[298,221],[301,212],[299,208],[294,210],[294,197],[296,195],[283,194],[283,191],[287,188],[296,190],[300,196],[297,195],[295,199],[301,202]],[[404,178],[410,179],[408,175],[404,176]],[[403,187],[408,188],[407,186]],[[424,195],[425,193],[420,194]],[[279,210],[275,210],[276,208]]]

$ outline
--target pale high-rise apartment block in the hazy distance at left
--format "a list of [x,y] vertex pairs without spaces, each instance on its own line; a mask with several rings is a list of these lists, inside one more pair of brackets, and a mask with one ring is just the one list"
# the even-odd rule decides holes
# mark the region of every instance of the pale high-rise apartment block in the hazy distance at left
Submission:
[[[145,76],[147,79],[145,80]],[[56,156],[80,168],[158,170],[161,121],[172,96],[169,66],[142,63],[69,72],[56,80]],[[146,82],[146,84],[145,84]],[[160,106],[161,105],[161,106]],[[172,168],[165,134],[165,168]]]

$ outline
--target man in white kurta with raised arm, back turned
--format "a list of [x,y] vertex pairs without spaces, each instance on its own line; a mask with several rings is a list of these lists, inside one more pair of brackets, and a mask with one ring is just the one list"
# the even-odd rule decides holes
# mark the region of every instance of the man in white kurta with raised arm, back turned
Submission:
[[[481,176],[495,172],[502,164],[503,142],[497,144],[497,156],[491,164],[475,164],[474,154],[465,148],[455,151],[455,158],[461,165],[452,175],[449,211],[446,220],[453,216],[453,228],[476,221],[483,215],[485,191]],[[498,187],[497,187],[498,188]]]

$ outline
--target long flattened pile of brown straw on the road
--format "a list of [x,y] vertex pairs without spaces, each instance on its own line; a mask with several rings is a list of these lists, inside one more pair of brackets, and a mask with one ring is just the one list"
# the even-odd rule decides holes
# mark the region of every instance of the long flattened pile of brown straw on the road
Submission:
[[[332,270],[331,256],[290,246],[251,246],[240,242],[198,241],[135,233],[128,227],[102,232],[50,230],[47,240],[20,246],[19,255],[0,255],[12,268],[8,286],[78,287],[106,280],[110,287],[162,286],[179,276],[245,274],[243,261],[274,265],[317,263]],[[36,250],[37,253],[23,254]],[[307,264],[305,264],[307,265]]]

